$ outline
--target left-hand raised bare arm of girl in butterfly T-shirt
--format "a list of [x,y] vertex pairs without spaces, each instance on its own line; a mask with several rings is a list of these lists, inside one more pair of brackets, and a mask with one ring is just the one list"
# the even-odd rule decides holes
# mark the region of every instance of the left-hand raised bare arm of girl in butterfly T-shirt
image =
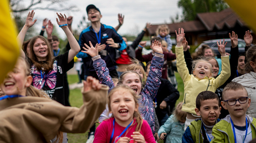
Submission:
[[22,50],[22,43],[24,42],[24,38],[25,38],[28,28],[32,27],[37,20],[37,19],[35,19],[33,21],[34,14],[35,14],[34,10],[32,10],[31,12],[28,12],[25,25],[22,27],[19,35],[17,36],[17,41],[20,43],[21,57],[23,57],[23,58],[25,58],[25,53]]

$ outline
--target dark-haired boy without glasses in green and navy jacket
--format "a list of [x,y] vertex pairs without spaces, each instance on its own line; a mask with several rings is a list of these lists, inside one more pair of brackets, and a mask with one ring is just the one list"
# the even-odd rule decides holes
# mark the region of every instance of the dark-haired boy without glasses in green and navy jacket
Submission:
[[220,121],[220,103],[217,94],[211,91],[200,92],[195,100],[195,119],[182,136],[183,143],[209,143],[213,140],[212,128]]

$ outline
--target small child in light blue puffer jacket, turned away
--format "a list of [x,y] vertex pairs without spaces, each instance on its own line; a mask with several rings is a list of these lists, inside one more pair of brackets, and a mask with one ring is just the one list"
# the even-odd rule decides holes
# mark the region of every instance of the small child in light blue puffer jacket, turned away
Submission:
[[187,113],[181,110],[182,102],[179,103],[173,114],[166,120],[163,126],[158,130],[160,138],[163,140],[167,135],[167,143],[181,143],[182,135],[184,133],[184,124]]

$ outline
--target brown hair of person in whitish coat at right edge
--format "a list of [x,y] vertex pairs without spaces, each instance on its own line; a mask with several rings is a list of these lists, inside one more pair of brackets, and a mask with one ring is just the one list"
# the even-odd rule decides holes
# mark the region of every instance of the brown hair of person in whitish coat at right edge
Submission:
[[244,71],[246,73],[254,72],[254,69],[250,65],[250,61],[256,62],[256,45],[251,46],[246,52],[246,63],[244,65]]

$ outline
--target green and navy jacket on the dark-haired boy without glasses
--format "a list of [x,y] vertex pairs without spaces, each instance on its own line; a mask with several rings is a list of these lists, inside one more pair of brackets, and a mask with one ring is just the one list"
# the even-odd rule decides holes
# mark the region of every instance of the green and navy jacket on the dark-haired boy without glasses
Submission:
[[[217,119],[217,122],[220,122],[220,119]],[[201,118],[192,121],[182,136],[182,143],[203,143],[202,124]]]

